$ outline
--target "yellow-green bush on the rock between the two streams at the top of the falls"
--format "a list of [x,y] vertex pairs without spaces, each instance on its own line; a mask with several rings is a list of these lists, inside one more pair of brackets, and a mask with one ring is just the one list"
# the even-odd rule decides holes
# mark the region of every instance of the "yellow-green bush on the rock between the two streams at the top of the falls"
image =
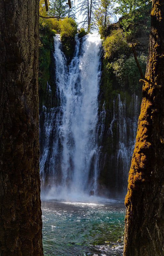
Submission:
[[63,20],[59,20],[59,26],[61,39],[63,38],[63,36],[74,37],[77,33],[77,23],[73,18],[66,17]]

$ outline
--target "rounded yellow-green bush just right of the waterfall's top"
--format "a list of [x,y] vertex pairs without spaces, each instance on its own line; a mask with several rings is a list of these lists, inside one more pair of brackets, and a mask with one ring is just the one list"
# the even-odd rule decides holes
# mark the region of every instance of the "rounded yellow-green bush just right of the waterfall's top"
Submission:
[[105,58],[118,57],[124,52],[129,51],[129,44],[123,36],[123,31],[119,28],[113,30],[110,36],[107,36],[103,42]]

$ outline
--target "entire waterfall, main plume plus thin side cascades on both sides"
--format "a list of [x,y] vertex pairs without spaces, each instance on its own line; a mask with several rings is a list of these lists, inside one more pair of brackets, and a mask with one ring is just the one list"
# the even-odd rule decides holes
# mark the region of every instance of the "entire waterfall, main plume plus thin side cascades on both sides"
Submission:
[[76,36],[75,41],[68,65],[60,36],[54,37],[56,106],[47,83],[49,107],[40,110],[41,193],[124,196],[140,99],[119,89],[105,102],[99,90],[100,37]]

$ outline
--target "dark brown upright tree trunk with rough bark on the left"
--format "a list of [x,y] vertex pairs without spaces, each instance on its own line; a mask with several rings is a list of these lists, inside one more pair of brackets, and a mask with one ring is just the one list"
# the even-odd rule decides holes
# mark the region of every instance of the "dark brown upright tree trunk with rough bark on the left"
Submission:
[[42,256],[39,0],[0,1],[0,256]]

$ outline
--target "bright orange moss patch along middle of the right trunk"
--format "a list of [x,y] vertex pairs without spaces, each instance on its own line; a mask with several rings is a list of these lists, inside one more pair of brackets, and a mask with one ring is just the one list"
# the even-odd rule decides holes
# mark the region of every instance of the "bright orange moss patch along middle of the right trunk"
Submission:
[[[125,197],[125,205],[128,206],[131,200],[132,192],[138,189],[141,182],[145,182],[146,177],[150,175],[150,159],[151,159],[151,134],[150,134],[150,113],[152,112],[152,102],[143,98],[141,106],[141,114],[138,120],[138,130],[136,137],[136,145],[131,161],[131,168],[128,179],[128,193]],[[149,150],[150,149],[150,150]],[[149,153],[150,152],[150,153]],[[145,168],[146,167],[146,168]]]

